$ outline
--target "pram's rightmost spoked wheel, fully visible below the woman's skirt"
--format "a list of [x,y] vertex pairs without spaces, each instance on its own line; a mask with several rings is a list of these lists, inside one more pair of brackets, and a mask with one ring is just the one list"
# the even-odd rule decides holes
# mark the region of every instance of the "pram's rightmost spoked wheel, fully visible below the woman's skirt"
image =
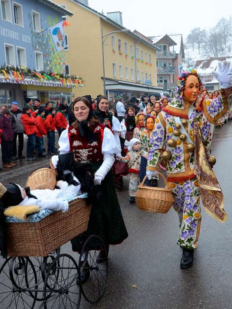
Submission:
[[[103,250],[106,260],[98,263],[98,253]],[[81,261],[81,256],[82,258]],[[80,282],[81,292],[89,303],[97,303],[103,296],[107,284],[108,261],[106,248],[99,236],[90,236],[83,248],[79,258],[79,276],[85,272],[89,279],[85,283]]]

